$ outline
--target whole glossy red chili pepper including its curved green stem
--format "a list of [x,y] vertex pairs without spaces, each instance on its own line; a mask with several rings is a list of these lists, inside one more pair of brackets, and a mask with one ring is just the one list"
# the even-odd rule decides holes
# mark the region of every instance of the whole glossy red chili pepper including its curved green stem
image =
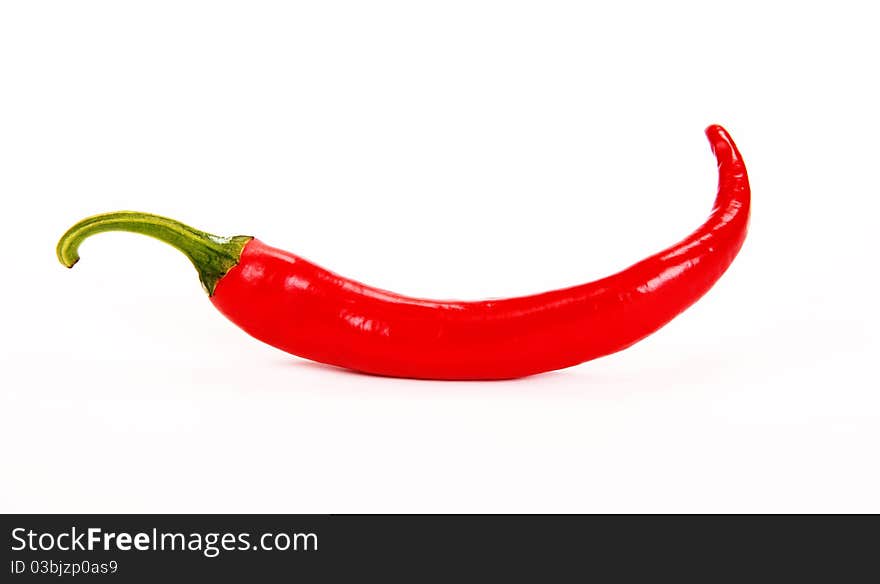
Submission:
[[252,237],[217,237],[122,211],[85,219],[58,243],[72,267],[79,244],[134,231],[186,254],[211,302],[245,332],[294,355],[394,377],[506,379],[561,369],[629,347],[696,302],[746,237],[749,182],[721,126],[715,207],[680,243],[622,272],[543,294],[484,301],[409,298],[348,280]]

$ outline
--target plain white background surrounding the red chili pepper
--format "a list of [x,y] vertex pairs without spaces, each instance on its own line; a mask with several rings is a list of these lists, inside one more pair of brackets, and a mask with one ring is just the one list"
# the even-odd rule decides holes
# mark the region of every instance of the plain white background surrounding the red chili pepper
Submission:
[[[880,512],[876,18],[865,3],[6,2],[3,512]],[[615,272],[751,233],[622,353],[511,382],[307,363],[119,209],[398,292]]]

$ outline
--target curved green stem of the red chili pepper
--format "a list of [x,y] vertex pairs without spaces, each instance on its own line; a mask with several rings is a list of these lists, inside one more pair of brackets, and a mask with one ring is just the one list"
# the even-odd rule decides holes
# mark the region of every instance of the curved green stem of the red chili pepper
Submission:
[[131,231],[149,235],[177,248],[195,266],[208,296],[214,294],[217,282],[238,263],[244,246],[253,239],[246,235],[219,237],[166,217],[117,211],[87,217],[68,229],[58,242],[58,261],[72,268],[79,261],[78,250],[83,240],[104,231]]

